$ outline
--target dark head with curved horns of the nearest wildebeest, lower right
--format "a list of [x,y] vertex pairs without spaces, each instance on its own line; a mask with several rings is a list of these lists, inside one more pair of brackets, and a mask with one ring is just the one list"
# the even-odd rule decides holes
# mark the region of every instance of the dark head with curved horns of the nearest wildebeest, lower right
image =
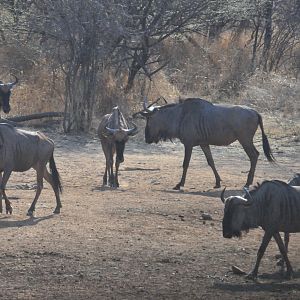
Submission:
[[249,229],[246,226],[245,221],[247,217],[247,209],[251,206],[252,201],[241,196],[230,196],[225,199],[224,192],[225,188],[221,194],[221,200],[225,204],[222,222],[223,237],[241,237],[242,231]]

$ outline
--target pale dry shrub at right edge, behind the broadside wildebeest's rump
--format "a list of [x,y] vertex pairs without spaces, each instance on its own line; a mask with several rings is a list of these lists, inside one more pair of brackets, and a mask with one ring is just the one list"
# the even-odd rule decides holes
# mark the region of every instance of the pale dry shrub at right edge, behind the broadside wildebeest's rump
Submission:
[[237,103],[269,115],[274,135],[300,137],[300,82],[281,74],[257,70],[249,78]]

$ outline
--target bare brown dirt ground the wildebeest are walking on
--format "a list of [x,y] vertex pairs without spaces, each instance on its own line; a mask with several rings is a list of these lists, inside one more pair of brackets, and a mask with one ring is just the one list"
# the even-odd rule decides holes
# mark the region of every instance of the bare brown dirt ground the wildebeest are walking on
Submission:
[[[266,127],[266,126],[265,126]],[[64,186],[63,208],[45,183],[35,217],[26,217],[35,173],[14,173],[7,194],[13,214],[0,216],[0,299],[299,299],[300,234],[293,234],[294,279],[276,267],[272,241],[259,282],[232,273],[250,271],[262,230],[242,239],[222,237],[221,189],[204,155],[195,149],[184,191],[172,190],[181,176],[183,147],[146,145],[131,139],[120,168],[120,188],[102,188],[104,156],[93,135],[66,136],[46,130],[56,143]],[[260,132],[256,146],[262,153]],[[278,165],[261,154],[255,181],[288,180],[300,171],[299,142],[270,139]],[[240,145],[212,147],[227,196],[241,193],[249,161]],[[212,220],[204,221],[208,213]]]

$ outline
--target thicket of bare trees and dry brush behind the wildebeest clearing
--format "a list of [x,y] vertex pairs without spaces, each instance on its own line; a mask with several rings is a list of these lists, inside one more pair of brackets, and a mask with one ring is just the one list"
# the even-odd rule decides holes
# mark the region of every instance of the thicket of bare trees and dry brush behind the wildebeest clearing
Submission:
[[0,0],[11,115],[64,111],[89,131],[119,105],[197,96],[271,113],[299,139],[300,0]]

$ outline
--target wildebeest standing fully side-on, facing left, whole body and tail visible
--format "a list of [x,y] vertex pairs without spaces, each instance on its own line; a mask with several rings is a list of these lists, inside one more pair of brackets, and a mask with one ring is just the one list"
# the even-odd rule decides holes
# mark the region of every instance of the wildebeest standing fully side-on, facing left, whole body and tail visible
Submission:
[[210,145],[226,146],[238,140],[247,153],[251,167],[246,186],[253,182],[258,151],[253,145],[253,136],[258,125],[262,132],[263,150],[268,161],[274,158],[267,136],[264,133],[261,115],[246,106],[212,104],[206,100],[190,98],[176,104],[161,107],[147,106],[140,112],[147,119],[145,128],[146,143],[158,143],[160,140],[178,138],[185,148],[183,174],[174,187],[184,186],[194,146],[200,146],[208,165],[212,168],[216,185],[220,187],[221,178],[215,168]]

